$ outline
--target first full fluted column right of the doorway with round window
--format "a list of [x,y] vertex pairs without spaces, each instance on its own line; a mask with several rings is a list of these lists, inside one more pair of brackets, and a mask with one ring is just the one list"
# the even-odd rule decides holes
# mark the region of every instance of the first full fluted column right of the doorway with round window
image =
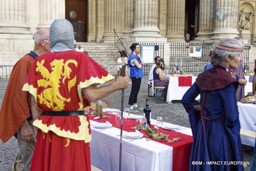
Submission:
[[[107,0],[105,1],[105,32],[102,41],[114,42],[115,32],[120,37],[121,31],[121,1]],[[117,36],[116,36],[117,39]]]

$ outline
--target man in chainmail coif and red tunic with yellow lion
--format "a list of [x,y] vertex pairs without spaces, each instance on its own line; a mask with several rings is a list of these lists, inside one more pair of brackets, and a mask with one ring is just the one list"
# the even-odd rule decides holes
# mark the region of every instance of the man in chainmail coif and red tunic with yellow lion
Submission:
[[53,21],[50,42],[50,52],[35,60],[23,87],[34,97],[33,125],[39,129],[31,171],[90,171],[92,138],[84,110],[92,101],[126,88],[128,78],[99,87],[115,78],[86,54],[74,51],[73,27],[66,19]]

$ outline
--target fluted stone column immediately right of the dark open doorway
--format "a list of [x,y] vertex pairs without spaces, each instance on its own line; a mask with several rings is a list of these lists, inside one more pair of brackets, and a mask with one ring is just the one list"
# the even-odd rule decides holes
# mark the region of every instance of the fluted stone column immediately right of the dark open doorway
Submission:
[[213,16],[214,3],[209,0],[200,0],[199,32],[195,40],[210,40],[213,36],[215,19]]

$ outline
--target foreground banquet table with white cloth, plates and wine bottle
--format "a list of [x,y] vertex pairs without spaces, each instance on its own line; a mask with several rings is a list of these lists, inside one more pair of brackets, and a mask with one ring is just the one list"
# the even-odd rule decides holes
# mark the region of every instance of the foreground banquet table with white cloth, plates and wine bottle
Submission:
[[[131,116],[133,114],[130,114]],[[103,171],[117,171],[119,170],[119,143],[120,143],[120,129],[117,127],[109,129],[98,129],[93,125],[98,122],[109,121],[113,123],[115,115],[108,119],[93,120],[95,116],[90,117],[92,141],[90,142],[91,150],[91,164]],[[129,122],[136,122],[133,119],[124,119],[123,125],[125,126]],[[139,122],[136,122],[139,125]],[[165,124],[165,123],[164,123]],[[113,124],[114,125],[114,124]],[[135,124],[136,125],[136,124]],[[134,125],[134,126],[135,126]],[[156,120],[152,119],[152,125],[156,125]],[[123,129],[125,130],[125,129]],[[131,130],[134,131],[134,130]],[[171,131],[171,130],[167,130]],[[126,131],[123,131],[123,134]],[[176,148],[176,155],[186,155],[187,165],[189,160],[189,154],[193,142],[192,132],[190,128],[181,127],[179,130],[173,131],[178,134],[186,135],[190,138],[186,143],[189,148],[183,148],[178,146]],[[163,132],[167,134],[166,132]],[[171,135],[170,135],[171,136]],[[146,141],[146,138],[141,139],[127,139],[122,138],[122,171],[172,171],[173,170],[173,156],[174,148],[170,145],[166,145],[157,141]],[[174,142],[177,143],[177,142]],[[169,144],[174,144],[169,143]],[[185,140],[183,142],[185,143]],[[189,149],[189,150],[187,150]],[[179,161],[179,167],[184,165],[184,161]],[[175,162],[176,163],[176,162]],[[174,163],[174,165],[175,165]],[[178,162],[177,162],[178,163]],[[176,166],[177,167],[177,166]],[[182,169],[187,170],[187,169]],[[181,171],[182,171],[181,170]]]

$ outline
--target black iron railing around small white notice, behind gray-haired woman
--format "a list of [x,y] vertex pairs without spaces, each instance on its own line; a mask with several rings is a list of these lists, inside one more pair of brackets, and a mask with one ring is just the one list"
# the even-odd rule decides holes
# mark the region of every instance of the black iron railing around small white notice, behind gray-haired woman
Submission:
[[[170,63],[204,63],[211,62],[209,57],[210,50],[214,49],[216,43],[171,43],[170,44]],[[202,47],[202,57],[189,57],[189,47]],[[250,44],[245,44],[241,56],[244,62],[249,62]]]

